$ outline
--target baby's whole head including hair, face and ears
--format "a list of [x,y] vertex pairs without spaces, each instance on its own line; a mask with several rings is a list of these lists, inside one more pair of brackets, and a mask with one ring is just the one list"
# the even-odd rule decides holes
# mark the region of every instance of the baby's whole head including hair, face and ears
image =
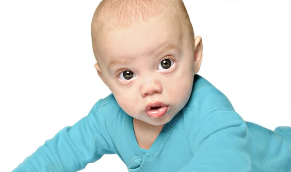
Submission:
[[92,44],[98,75],[133,118],[163,125],[188,102],[202,41],[182,0],[103,0]]

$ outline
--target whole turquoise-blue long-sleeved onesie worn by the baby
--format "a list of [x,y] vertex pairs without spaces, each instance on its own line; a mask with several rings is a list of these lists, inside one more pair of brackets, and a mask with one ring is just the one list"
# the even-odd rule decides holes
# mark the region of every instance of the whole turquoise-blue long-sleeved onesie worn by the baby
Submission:
[[138,146],[132,117],[111,94],[13,172],[77,172],[105,154],[117,154],[129,172],[291,172],[291,127],[271,131],[245,122],[222,92],[195,75],[188,103],[149,150]]

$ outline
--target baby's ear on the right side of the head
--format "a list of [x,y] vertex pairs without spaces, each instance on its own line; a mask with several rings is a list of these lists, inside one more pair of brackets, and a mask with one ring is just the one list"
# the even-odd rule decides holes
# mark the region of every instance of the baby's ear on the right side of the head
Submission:
[[202,63],[202,51],[203,44],[202,38],[200,36],[196,36],[194,39],[194,69],[195,74],[198,73],[201,63]]

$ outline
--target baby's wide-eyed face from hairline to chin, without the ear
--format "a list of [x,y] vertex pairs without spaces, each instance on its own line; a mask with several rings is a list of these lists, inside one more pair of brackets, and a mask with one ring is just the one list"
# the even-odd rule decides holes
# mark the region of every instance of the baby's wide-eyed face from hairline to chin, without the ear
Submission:
[[161,18],[99,34],[95,67],[131,117],[163,125],[189,100],[194,52],[183,30],[178,22]]

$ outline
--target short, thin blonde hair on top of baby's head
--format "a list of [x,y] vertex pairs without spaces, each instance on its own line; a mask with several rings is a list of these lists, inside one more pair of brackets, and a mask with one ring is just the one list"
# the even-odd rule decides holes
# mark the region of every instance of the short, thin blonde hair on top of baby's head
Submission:
[[183,0],[102,0],[91,23],[93,52],[98,31],[129,28],[160,16],[178,19],[194,40],[193,26]]

